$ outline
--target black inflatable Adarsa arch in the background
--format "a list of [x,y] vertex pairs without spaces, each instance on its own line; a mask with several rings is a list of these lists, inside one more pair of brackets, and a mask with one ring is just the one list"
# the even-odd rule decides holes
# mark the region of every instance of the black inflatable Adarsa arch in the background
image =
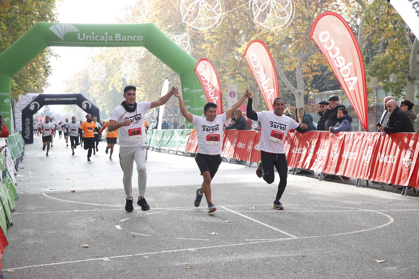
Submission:
[[25,143],[34,143],[34,114],[44,105],[78,105],[100,121],[99,109],[81,94],[39,94],[22,110],[22,136]]

